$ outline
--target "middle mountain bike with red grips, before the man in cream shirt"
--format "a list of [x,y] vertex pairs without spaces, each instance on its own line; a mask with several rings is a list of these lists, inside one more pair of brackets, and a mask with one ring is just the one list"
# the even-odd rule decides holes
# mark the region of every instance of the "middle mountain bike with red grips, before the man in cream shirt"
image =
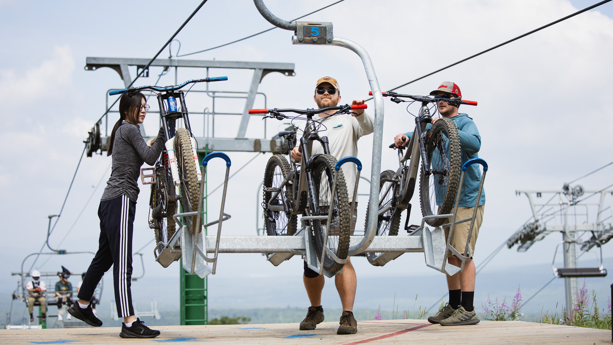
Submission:
[[[330,155],[328,138],[318,134],[319,128],[324,126],[321,123],[324,118],[314,120],[313,115],[337,110],[331,115],[334,116],[366,108],[366,104],[345,104],[307,110],[249,109],[249,114],[269,114],[264,118],[278,120],[306,115],[307,123],[300,138],[300,166],[293,160],[287,163],[283,155],[273,155],[266,165],[262,200],[264,224],[268,236],[291,236],[297,230],[297,215],[305,216],[319,262],[330,273],[340,271],[346,261],[353,210],[349,204],[345,176],[341,171],[335,174],[337,159]],[[284,112],[300,115],[289,117],[282,114]],[[292,152],[297,142],[296,131],[281,131],[278,137],[286,140],[287,149]],[[311,155],[313,141],[321,143],[324,154]],[[330,227],[326,229],[328,224]],[[327,238],[324,238],[325,234]],[[326,253],[323,260],[322,253]]]

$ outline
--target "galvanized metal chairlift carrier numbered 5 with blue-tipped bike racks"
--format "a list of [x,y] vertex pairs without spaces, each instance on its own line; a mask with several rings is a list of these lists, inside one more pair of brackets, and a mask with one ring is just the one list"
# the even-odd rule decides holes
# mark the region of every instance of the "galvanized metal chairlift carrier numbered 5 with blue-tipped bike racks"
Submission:
[[[381,152],[382,152],[382,143],[383,143],[383,94],[379,88],[379,83],[376,78],[375,69],[373,68],[373,64],[370,60],[370,56],[364,48],[360,47],[360,45],[355,42],[349,41],[348,39],[343,39],[340,37],[333,37],[332,33],[332,23],[316,23],[311,21],[295,21],[288,22],[281,20],[280,18],[275,17],[264,5],[262,0],[254,0],[254,4],[259,10],[262,17],[268,20],[273,25],[287,29],[290,31],[294,31],[294,36],[292,37],[293,44],[319,44],[319,45],[337,45],[340,47],[345,47],[355,52],[362,63],[364,64],[364,69],[368,78],[368,82],[370,83],[371,92],[373,94],[373,98],[375,99],[375,130],[374,130],[374,138],[373,138],[373,157],[371,160],[371,179],[370,179],[370,201],[369,201],[369,209],[376,210],[378,209],[379,204],[379,174],[381,172]],[[305,33],[308,32],[309,29],[312,29],[313,26],[319,28],[316,34],[310,37],[306,36]],[[329,216],[306,216],[301,218],[301,222],[303,227],[296,231],[293,236],[221,236],[221,223],[224,220],[230,218],[230,215],[224,214],[224,202],[227,192],[227,180],[229,174],[230,167],[230,159],[221,152],[214,152],[207,155],[207,157],[213,158],[213,154],[217,154],[216,157],[224,158],[227,162],[226,169],[226,179],[224,180],[224,192],[223,199],[221,204],[221,211],[219,213],[219,220],[215,220],[215,222],[207,223],[203,227],[209,227],[214,224],[218,224],[218,232],[216,236],[202,236],[202,232],[197,234],[190,234],[187,230],[187,227],[179,222],[178,217],[183,217],[186,215],[197,215],[200,212],[187,212],[187,213],[179,213],[175,214],[173,218],[175,222],[180,225],[181,230],[177,231],[175,235],[169,240],[169,243],[166,245],[164,250],[169,250],[172,252],[172,248],[176,249],[176,244],[180,243],[181,254],[183,255],[184,265],[183,268],[191,274],[196,273],[200,277],[205,277],[210,273],[215,274],[215,265],[216,260],[218,258],[218,254],[225,253],[262,253],[262,254],[273,254],[268,256],[267,260],[270,261],[274,266],[280,265],[281,262],[285,260],[289,260],[289,258],[294,255],[304,255],[307,257],[307,265],[310,266],[311,269],[319,271],[320,273],[325,274],[326,276],[333,276],[333,274],[327,272],[322,268],[321,263],[317,259],[317,255],[314,252],[313,244],[311,241],[311,236],[307,235],[309,227],[306,225],[307,220],[312,219],[327,219]],[[205,157],[205,161],[207,160]],[[209,158],[210,159],[210,158]],[[203,172],[206,166],[206,162],[203,161]],[[361,163],[355,157],[345,157],[338,161],[337,166],[335,166],[335,170],[338,171],[340,169],[340,165],[351,161],[359,165],[359,171],[356,177],[356,186],[354,187],[354,198],[357,192],[357,184],[359,183],[359,172],[361,170]],[[469,163],[470,162],[470,163]],[[462,172],[462,181],[464,177],[464,171],[468,165],[479,163],[484,165],[484,177],[485,171],[487,171],[487,164],[484,160],[479,158],[474,158],[465,163],[463,166]],[[335,172],[336,174],[337,172]],[[462,186],[462,182],[460,182],[460,188]],[[481,180],[481,185],[479,187],[479,197],[481,196],[481,191],[483,187],[483,179]],[[200,201],[202,201],[202,193],[204,188],[200,187]],[[463,264],[461,268],[455,266],[447,266],[445,267],[446,251],[452,250],[454,253],[458,252],[452,247],[450,244],[446,244],[444,238],[443,227],[437,227],[433,230],[430,230],[428,227],[424,226],[425,219],[428,218],[443,218],[443,217],[452,217],[451,228],[457,223],[467,222],[468,220],[473,220],[473,217],[468,219],[463,219],[459,221],[455,221],[455,214],[457,213],[457,203],[459,200],[456,200],[456,207],[454,209],[453,214],[444,214],[444,215],[433,215],[424,217],[422,219],[421,227],[417,228],[411,235],[409,236],[375,236],[377,230],[377,220],[378,220],[378,212],[370,212],[367,218],[367,226],[364,231],[364,236],[349,236],[349,251],[348,257],[356,254],[360,254],[362,252],[378,252],[378,253],[390,253],[387,257],[387,261],[393,260],[394,258],[399,257],[402,253],[406,252],[424,252],[425,254],[425,262],[428,267],[432,267],[437,271],[442,273],[446,273],[449,275],[453,275],[463,269]],[[477,204],[479,203],[479,198],[477,200]],[[449,226],[450,224],[446,224]],[[450,237],[452,235],[452,231],[450,231]],[[469,234],[468,241],[470,243]],[[327,238],[327,236],[326,236]],[[178,240],[181,240],[180,242]],[[202,248],[202,249],[201,249]],[[327,246],[324,246],[324,250],[330,255],[331,251],[326,250]],[[469,249],[470,250],[470,249]],[[206,253],[215,252],[215,256],[212,258],[208,258]],[[470,260],[470,252],[465,250],[465,254],[459,254],[463,262]],[[322,256],[323,257],[323,256]],[[333,257],[333,256],[332,256]],[[177,258],[178,260],[178,258]],[[346,262],[346,259],[340,260],[336,258],[337,262]],[[340,260],[340,261],[339,261]],[[212,262],[213,269],[209,268],[205,262]],[[189,266],[191,263],[191,266]]]

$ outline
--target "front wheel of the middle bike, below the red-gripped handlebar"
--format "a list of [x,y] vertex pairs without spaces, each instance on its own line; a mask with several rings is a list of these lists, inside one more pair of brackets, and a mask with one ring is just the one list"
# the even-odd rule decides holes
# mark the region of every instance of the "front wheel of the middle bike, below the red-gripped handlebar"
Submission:
[[[336,164],[337,160],[332,155],[320,155],[315,158],[311,174],[313,176],[314,190],[318,193],[316,200],[319,202],[316,202],[316,204],[319,204],[319,206],[311,210],[311,215],[328,215],[329,212],[332,212],[327,247],[338,258],[344,259],[347,258],[349,251],[351,206],[349,206],[349,197],[343,172],[338,172],[336,190],[332,190],[334,166]],[[311,236],[319,261],[323,262],[324,269],[330,273],[340,271],[344,264],[335,262],[328,254],[324,255],[324,260],[321,260],[327,220],[313,220],[311,224],[313,225]]]

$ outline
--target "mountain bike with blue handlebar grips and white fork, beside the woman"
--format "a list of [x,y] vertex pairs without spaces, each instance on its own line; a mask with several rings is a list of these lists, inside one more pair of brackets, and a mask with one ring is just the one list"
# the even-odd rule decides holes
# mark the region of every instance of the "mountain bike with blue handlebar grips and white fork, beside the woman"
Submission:
[[[182,212],[197,210],[200,182],[202,181],[202,172],[200,172],[198,163],[198,146],[189,125],[185,93],[180,89],[190,83],[221,80],[227,80],[227,77],[194,79],[167,87],[148,85],[109,91],[111,96],[122,93],[135,94],[142,90],[154,91],[157,94],[159,116],[162,119],[164,134],[168,139],[153,168],[142,168],[140,177],[143,184],[151,184],[149,205],[152,211],[149,227],[155,233],[154,256],[156,261],[164,267],[181,256],[181,251],[178,250],[178,254],[173,255],[173,260],[158,260],[161,250],[175,234],[175,221],[172,216],[177,213],[177,201],[181,205]],[[177,107],[177,99],[180,108]],[[178,119],[183,120],[185,128],[176,128]],[[145,171],[152,171],[152,173],[144,174]],[[151,180],[145,181],[145,178],[148,177]],[[202,226],[202,221],[197,223],[194,216],[183,217],[183,222],[188,225],[189,232],[192,234],[198,233]]]

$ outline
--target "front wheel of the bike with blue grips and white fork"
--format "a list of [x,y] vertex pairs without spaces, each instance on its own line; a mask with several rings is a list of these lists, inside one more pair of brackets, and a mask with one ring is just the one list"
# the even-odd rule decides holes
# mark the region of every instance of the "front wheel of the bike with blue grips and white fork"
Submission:
[[[200,184],[196,178],[196,163],[194,163],[194,153],[191,149],[189,131],[186,128],[179,128],[175,133],[175,155],[177,156],[177,166],[181,184],[179,187],[181,212],[197,211],[198,198],[200,197]],[[196,215],[183,217],[183,222],[187,224],[189,233],[194,233],[196,229],[200,232],[200,224],[196,224]]]

